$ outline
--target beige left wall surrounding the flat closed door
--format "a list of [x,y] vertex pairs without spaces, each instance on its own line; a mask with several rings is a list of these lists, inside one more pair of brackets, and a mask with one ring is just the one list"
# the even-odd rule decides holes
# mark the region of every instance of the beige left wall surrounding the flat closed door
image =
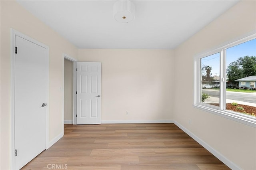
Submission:
[[10,28],[50,47],[49,141],[63,133],[62,54],[78,56],[78,49],[15,1],[1,1],[1,170],[10,169],[11,68]]

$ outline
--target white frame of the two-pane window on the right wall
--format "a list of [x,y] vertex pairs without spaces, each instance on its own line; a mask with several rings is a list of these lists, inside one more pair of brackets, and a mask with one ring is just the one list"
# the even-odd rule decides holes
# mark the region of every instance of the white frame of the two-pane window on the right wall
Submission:
[[[227,119],[256,127],[256,117],[245,115],[242,113],[226,110],[226,49],[248,42],[256,38],[256,34],[251,34],[239,40],[226,43],[215,49],[208,50],[194,57],[194,107],[203,111],[225,117]],[[209,105],[201,102],[201,59],[209,55],[220,53],[220,107]]]

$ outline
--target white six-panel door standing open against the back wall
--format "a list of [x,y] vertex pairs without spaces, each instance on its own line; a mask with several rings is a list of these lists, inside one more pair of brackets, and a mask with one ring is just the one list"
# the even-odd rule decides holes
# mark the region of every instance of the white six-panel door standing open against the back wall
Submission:
[[77,62],[78,125],[101,123],[101,63]]

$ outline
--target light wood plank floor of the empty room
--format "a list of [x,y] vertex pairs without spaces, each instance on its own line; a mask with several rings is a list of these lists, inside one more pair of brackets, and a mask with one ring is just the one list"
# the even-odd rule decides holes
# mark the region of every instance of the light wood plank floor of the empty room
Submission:
[[64,133],[56,144],[44,150],[23,169],[229,169],[172,123],[66,124]]

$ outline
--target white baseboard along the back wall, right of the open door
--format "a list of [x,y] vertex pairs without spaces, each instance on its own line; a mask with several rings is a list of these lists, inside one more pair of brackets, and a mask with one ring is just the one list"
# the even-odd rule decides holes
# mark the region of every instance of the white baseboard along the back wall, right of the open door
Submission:
[[118,123],[174,123],[173,120],[102,120],[102,124]]

